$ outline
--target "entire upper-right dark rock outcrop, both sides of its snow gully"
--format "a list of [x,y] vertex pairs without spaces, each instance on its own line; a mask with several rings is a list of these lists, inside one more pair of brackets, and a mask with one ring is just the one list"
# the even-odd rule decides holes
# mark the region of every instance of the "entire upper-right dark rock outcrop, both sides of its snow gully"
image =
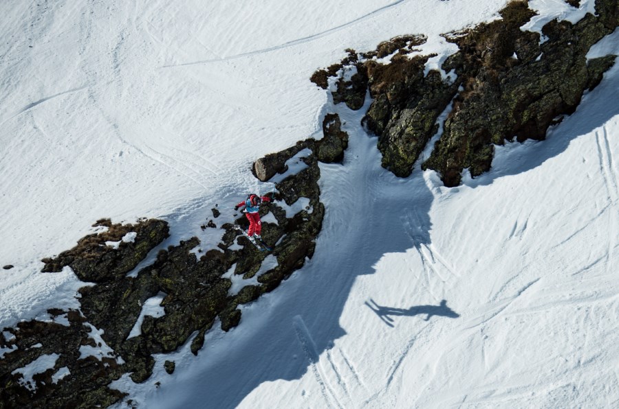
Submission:
[[[618,27],[619,3],[597,0],[596,13],[575,25],[547,23],[541,41],[539,34],[520,29],[534,12],[527,1],[515,0],[501,11],[501,20],[446,36],[460,49],[442,65],[455,78],[435,70],[425,73],[432,56],[408,56],[425,38],[404,36],[370,53],[349,51],[340,65],[316,71],[312,80],[326,88],[329,77],[338,78],[334,102],[352,109],[362,106],[358,101],[369,89],[373,102],[364,122],[378,135],[382,165],[397,176],[411,174],[438,130],[437,118],[453,100],[444,131],[422,168],[437,170],[445,185],[455,186],[466,168],[473,177],[490,169],[494,145],[544,139],[547,129],[561,115],[573,113],[583,93],[600,82],[616,58],[587,61],[586,54]],[[390,62],[377,60],[387,55]],[[356,76],[347,79],[347,67]]]

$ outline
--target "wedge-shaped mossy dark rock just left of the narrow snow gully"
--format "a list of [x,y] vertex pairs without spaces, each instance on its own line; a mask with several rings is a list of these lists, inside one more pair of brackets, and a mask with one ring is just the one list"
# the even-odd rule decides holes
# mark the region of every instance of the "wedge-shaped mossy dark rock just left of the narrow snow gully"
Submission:
[[[363,121],[379,137],[382,165],[398,176],[411,174],[413,163],[437,130],[437,117],[459,86],[459,82],[442,80],[437,71],[425,76],[429,56],[406,56],[425,42],[425,36],[400,36],[380,43],[376,51],[362,54],[362,62],[349,56],[341,65],[357,73],[350,80],[340,76],[332,93],[335,103],[346,102],[349,108],[359,109],[369,88],[373,102]],[[392,54],[389,64],[373,59]],[[325,148],[333,149],[329,143]],[[319,160],[334,161],[329,157],[323,160],[323,156],[319,151]]]

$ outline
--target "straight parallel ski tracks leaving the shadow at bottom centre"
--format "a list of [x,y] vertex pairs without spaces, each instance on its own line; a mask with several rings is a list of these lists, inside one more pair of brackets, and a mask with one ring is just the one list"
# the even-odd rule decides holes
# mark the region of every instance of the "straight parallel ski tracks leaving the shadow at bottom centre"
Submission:
[[[354,366],[351,365],[350,360],[340,349],[327,349],[325,357],[327,365],[323,364],[314,339],[310,335],[303,318],[298,315],[294,316],[292,326],[305,358],[310,363],[310,371],[314,374],[314,379],[316,379],[327,407],[340,409],[354,407],[354,395],[351,394],[349,388],[360,387],[365,390],[365,384]],[[336,358],[339,358],[338,360],[343,364],[336,364]]]

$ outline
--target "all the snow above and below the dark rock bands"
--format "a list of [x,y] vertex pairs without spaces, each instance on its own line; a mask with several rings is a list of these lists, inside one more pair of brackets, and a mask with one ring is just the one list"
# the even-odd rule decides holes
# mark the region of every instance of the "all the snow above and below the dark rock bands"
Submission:
[[[163,217],[162,246],[206,242],[208,209],[226,218],[269,188],[252,161],[336,110],[351,141],[343,166],[321,165],[314,258],[197,357],[187,346],[115,386],[148,408],[616,406],[619,67],[547,141],[498,148],[491,172],[452,189],[418,166],[383,170],[365,108],[308,80],[395,35],[453,51],[438,34],[504,3],[3,3],[0,264],[16,267],[0,270],[0,326],[78,305],[72,272],[38,260],[98,218]],[[619,52],[616,34],[595,53]]]

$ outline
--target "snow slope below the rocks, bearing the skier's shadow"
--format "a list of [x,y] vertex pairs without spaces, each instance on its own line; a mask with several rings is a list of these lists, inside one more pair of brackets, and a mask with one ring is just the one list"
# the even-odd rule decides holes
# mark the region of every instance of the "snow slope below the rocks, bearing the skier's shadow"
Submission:
[[[453,189],[432,174],[382,170],[360,118],[340,110],[351,146],[343,168],[323,166],[332,211],[316,256],[285,292],[243,307],[246,325],[231,337],[215,331],[197,360],[180,358],[186,373],[155,373],[158,390],[139,386],[146,406],[616,404],[609,135],[619,121],[605,102],[618,73],[545,149],[508,145],[495,170]],[[356,197],[371,220],[348,218]]]

